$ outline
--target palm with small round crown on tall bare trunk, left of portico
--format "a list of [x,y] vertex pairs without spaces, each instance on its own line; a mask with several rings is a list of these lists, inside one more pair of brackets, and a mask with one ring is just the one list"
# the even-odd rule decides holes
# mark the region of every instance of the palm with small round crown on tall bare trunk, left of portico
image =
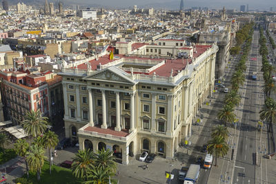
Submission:
[[43,146],[48,148],[49,150],[50,174],[51,174],[51,167],[52,167],[51,149],[52,147],[56,147],[57,143],[59,143],[59,137],[57,136],[57,134],[55,134],[55,132],[52,132],[49,130],[42,137]]

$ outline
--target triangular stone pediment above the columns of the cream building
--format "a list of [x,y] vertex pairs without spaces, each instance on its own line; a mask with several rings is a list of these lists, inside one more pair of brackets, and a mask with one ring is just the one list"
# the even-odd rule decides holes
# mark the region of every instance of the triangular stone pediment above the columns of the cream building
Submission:
[[120,70],[116,67],[105,68],[89,76],[84,77],[86,80],[96,80],[96,81],[108,81],[115,83],[130,83],[134,84],[135,81],[130,79],[130,74]]

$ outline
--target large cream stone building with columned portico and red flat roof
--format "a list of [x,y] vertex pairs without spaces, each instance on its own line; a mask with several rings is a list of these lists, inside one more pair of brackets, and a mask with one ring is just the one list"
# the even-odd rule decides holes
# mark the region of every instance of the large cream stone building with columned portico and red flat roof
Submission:
[[107,54],[63,68],[66,137],[116,150],[123,164],[143,151],[172,158],[215,83],[217,45],[186,50],[187,59]]

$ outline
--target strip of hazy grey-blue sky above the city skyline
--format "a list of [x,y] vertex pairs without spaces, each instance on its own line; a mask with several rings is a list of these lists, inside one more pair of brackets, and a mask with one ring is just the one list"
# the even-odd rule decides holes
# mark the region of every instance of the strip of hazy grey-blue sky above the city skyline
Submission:
[[[79,3],[81,6],[86,4],[99,4],[102,6],[110,6],[114,8],[126,8],[130,6],[146,6],[148,4],[157,3],[159,6],[179,6],[180,0],[63,0],[64,3]],[[190,8],[191,6],[201,6],[208,8],[220,8],[226,6],[227,8],[239,9],[239,6],[246,5],[248,3],[249,9],[267,9],[273,7],[276,10],[276,0],[184,0],[185,8]]]

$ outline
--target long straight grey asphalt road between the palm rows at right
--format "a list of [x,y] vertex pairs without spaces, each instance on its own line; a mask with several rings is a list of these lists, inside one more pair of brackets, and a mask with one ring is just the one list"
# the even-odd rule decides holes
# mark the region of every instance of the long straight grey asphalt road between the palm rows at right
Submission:
[[[256,126],[259,121],[259,95],[261,87],[259,86],[260,67],[257,65],[262,62],[250,60],[259,55],[258,50],[259,31],[255,30],[253,35],[253,44],[249,54],[249,65],[246,74],[247,84],[242,90],[245,96],[242,121],[239,124],[239,143],[237,147],[237,157],[234,168],[233,183],[255,183],[255,154],[256,154]],[[256,81],[251,79],[253,72],[258,72]]]

